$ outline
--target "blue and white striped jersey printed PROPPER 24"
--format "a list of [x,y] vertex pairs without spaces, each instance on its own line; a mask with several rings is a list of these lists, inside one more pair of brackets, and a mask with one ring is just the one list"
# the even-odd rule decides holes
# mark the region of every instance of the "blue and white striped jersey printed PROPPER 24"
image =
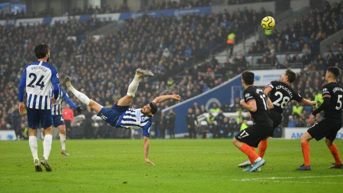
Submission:
[[24,69],[23,81],[26,81],[26,105],[30,109],[51,109],[50,89],[58,83],[55,67],[44,61],[30,63]]

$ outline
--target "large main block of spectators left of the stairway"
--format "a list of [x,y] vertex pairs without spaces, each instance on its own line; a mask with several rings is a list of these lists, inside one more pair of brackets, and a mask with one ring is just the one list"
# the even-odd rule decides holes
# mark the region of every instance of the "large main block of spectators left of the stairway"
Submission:
[[[32,50],[37,42],[49,39],[47,43],[52,49],[50,61],[61,77],[66,74],[72,76],[75,87],[82,88],[83,92],[106,106],[126,93],[137,67],[154,71],[155,79],[141,82],[134,104],[138,107],[164,93],[180,93],[187,99],[222,83],[223,77],[217,78],[208,68],[199,71],[194,78],[177,80],[173,75],[194,66],[195,61],[203,60],[208,50],[225,42],[226,34],[234,26],[246,26],[238,22],[239,17],[244,15],[243,24],[252,25],[251,18],[263,14],[264,10],[237,10],[232,14],[188,15],[180,20],[143,16],[136,20],[128,19],[116,35],[98,40],[85,34],[109,21],[91,18],[88,22],[79,23],[71,19],[53,26],[1,26],[1,61],[4,65],[1,66],[0,88],[4,92],[0,98],[7,102],[0,104],[0,127],[10,128],[14,122],[19,122],[18,117],[11,118],[17,113],[17,82],[22,71],[18,69],[35,60]],[[218,69],[216,65],[212,66]],[[75,98],[73,100],[76,101]],[[162,108],[171,104],[166,103]],[[22,117],[20,123],[25,119]]]

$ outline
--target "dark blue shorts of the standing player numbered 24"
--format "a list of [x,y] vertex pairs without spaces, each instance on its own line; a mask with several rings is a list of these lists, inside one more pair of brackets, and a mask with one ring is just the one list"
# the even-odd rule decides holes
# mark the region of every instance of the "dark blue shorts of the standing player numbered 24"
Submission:
[[43,128],[47,128],[52,125],[51,109],[30,109],[27,108],[28,124],[29,128],[38,128],[39,125]]

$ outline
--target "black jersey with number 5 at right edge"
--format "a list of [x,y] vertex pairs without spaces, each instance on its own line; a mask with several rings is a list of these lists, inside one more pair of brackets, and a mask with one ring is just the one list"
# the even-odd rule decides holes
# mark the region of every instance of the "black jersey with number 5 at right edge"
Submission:
[[324,109],[325,118],[342,118],[343,87],[337,82],[330,82],[323,87],[323,98],[330,97],[330,105]]

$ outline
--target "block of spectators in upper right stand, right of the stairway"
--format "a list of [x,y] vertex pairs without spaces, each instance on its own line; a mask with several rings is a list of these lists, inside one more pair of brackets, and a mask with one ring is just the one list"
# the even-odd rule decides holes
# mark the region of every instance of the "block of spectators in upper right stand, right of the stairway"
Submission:
[[320,41],[343,29],[343,1],[332,5],[325,2],[323,10],[311,9],[308,17],[294,20],[281,32],[276,29],[267,34],[267,41],[252,44],[248,54],[303,52],[316,55],[319,53]]

